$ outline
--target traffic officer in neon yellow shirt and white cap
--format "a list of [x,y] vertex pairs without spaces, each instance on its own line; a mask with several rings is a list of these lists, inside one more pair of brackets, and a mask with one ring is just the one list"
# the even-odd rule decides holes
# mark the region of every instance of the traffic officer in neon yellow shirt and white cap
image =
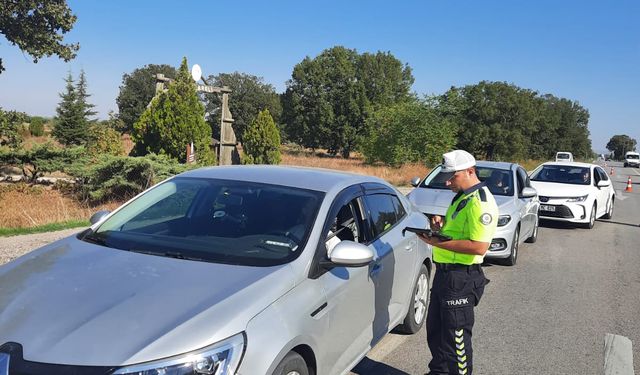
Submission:
[[433,246],[436,266],[427,315],[432,356],[428,374],[470,375],[473,308],[489,282],[480,264],[496,231],[498,206],[478,179],[471,154],[455,150],[443,157],[439,173],[456,195],[444,220],[440,216],[431,219],[431,229],[451,240],[420,235]]

